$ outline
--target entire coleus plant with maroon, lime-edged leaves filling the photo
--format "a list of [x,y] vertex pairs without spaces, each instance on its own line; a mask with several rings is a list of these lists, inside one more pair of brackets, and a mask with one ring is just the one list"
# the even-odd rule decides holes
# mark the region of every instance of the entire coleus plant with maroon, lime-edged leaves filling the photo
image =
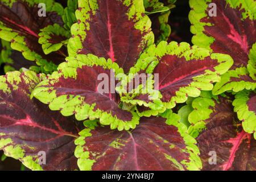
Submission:
[[[6,156],[33,170],[256,169],[255,1],[190,0],[194,46],[166,42],[173,0],[0,2]],[[134,86],[143,74],[154,81]]]

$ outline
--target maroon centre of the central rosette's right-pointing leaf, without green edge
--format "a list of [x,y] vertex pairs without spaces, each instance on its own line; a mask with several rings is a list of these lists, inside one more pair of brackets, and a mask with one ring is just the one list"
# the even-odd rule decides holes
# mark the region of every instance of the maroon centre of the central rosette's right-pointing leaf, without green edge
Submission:
[[[176,61],[179,59],[179,61]],[[163,95],[162,101],[168,102],[176,95],[181,87],[190,85],[193,77],[202,75],[207,69],[214,71],[218,61],[206,57],[204,60],[186,61],[185,57],[176,55],[163,56],[154,69],[159,73],[159,90]]]

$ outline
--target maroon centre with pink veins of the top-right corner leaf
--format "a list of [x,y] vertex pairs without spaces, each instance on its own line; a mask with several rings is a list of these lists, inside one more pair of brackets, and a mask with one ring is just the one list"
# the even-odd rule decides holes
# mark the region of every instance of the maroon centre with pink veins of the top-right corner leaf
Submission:
[[215,41],[210,48],[214,52],[226,53],[233,57],[232,69],[246,67],[251,47],[256,42],[256,20],[242,19],[242,12],[232,9],[225,1],[217,3],[218,16],[205,18],[202,22],[213,23],[214,26],[205,26],[205,34],[214,37]]

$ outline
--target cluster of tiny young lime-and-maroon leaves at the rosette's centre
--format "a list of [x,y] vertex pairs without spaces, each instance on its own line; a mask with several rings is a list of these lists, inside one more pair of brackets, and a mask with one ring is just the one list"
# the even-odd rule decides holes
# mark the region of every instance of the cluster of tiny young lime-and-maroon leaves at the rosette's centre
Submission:
[[[152,64],[158,64],[157,59],[153,58]],[[145,109],[143,114],[138,113],[140,116],[157,115],[161,110],[162,113],[166,110],[160,98],[162,95],[154,89],[154,76],[148,74],[147,71],[138,73],[131,73],[121,77],[121,84],[115,88],[121,96],[121,101],[130,107],[142,106]],[[138,110],[138,109],[137,109]],[[153,110],[155,112],[153,113]]]

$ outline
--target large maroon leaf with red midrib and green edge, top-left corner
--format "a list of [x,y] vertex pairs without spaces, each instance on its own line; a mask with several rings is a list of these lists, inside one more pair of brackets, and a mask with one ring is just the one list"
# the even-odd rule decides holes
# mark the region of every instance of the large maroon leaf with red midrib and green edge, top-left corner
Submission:
[[[53,0],[1,1],[0,38],[11,42],[11,48],[22,52],[31,61],[43,66],[46,72],[56,69],[55,64],[64,61],[63,51],[45,55],[38,43],[40,29],[57,23],[63,26],[63,7]],[[39,3],[46,5],[46,16],[39,17]]]

